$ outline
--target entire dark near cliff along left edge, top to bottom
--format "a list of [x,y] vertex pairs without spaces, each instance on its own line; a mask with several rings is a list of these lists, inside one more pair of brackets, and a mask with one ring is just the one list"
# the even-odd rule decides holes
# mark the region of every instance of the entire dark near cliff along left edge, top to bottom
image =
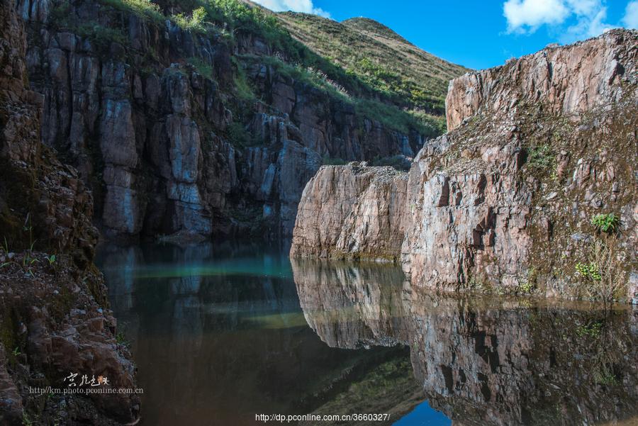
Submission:
[[[0,423],[113,425],[139,419],[133,394],[79,393],[65,377],[135,388],[128,350],[91,263],[98,232],[78,172],[40,143],[43,96],[26,78],[26,38],[0,7]],[[32,388],[43,389],[40,393]]]

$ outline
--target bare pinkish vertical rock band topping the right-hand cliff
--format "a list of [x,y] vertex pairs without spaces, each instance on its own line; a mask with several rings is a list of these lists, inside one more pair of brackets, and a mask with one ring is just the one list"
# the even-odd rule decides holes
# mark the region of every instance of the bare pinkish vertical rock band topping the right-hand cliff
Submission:
[[447,128],[479,111],[503,113],[521,101],[540,102],[547,113],[563,116],[620,101],[636,90],[635,43],[635,33],[615,32],[453,79],[445,101]]

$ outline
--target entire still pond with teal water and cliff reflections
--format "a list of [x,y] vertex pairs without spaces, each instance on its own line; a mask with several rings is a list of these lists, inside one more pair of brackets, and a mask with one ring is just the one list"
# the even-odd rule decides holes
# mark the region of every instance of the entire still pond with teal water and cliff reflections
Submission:
[[638,423],[638,311],[444,297],[383,265],[203,244],[103,246],[143,425]]

